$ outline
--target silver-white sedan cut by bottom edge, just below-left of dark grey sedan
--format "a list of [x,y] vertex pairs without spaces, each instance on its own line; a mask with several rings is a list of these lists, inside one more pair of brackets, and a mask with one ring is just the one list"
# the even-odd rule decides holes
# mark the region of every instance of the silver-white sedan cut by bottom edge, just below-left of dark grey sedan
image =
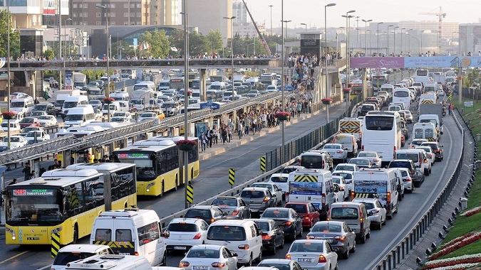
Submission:
[[296,240],[286,254],[286,259],[297,261],[303,269],[309,270],[338,269],[337,258],[331,244],[321,239]]

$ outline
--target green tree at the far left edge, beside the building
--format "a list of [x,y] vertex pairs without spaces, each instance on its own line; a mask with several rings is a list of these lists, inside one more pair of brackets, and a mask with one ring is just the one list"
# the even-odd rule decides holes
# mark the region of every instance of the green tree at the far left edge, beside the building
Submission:
[[20,32],[12,28],[11,14],[7,14],[6,10],[0,11],[0,55],[6,57],[7,55],[7,42],[8,42],[8,21],[10,18],[10,55],[12,59],[16,59],[20,56]]

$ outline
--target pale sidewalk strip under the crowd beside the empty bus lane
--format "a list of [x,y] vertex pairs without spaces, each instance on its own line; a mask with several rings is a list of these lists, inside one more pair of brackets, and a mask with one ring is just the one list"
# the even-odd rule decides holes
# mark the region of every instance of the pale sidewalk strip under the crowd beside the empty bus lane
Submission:
[[[336,104],[331,105],[332,107],[339,106],[346,106],[346,102],[338,102]],[[324,109],[321,109],[317,112],[313,112],[311,114],[301,114],[301,117],[293,117],[291,118],[291,121],[284,121],[284,124],[286,126],[291,126],[292,124],[298,124],[301,123],[304,119],[309,119],[311,117],[314,117],[317,114],[321,114],[322,112],[325,113]],[[252,135],[252,133],[249,133],[249,136],[242,136],[242,139],[239,140],[239,136],[237,134],[232,134],[232,140],[230,143],[222,144],[222,140],[219,140],[219,144],[212,144],[212,148],[206,148],[205,152],[200,152],[199,153],[199,161],[205,161],[208,158],[211,158],[212,156],[217,156],[220,153],[224,153],[225,151],[235,148],[238,146],[242,146],[244,144],[249,143],[249,141],[254,141],[256,138],[265,136],[267,134],[271,134],[274,131],[278,131],[282,129],[282,125],[279,124],[279,126],[274,126],[271,128],[267,129],[262,129],[260,132],[257,132],[255,135]],[[287,141],[291,141],[291,139],[287,139]]]

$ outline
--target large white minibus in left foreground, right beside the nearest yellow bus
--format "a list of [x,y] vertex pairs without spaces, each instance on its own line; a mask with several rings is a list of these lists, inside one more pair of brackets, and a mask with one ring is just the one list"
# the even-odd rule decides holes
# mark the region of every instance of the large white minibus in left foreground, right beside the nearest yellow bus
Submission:
[[[91,244],[109,243],[120,255],[138,255],[151,266],[165,265],[166,247],[160,219],[154,210],[102,212],[93,221]],[[113,247],[110,243],[116,244]],[[262,242],[262,241],[261,241]]]

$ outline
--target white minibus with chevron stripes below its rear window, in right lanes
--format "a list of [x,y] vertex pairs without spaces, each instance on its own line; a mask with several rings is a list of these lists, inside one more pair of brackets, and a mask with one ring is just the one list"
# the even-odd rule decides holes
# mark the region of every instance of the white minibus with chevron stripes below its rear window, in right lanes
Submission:
[[386,208],[386,217],[393,218],[398,212],[398,180],[393,168],[361,168],[354,173],[353,198],[378,198]]

